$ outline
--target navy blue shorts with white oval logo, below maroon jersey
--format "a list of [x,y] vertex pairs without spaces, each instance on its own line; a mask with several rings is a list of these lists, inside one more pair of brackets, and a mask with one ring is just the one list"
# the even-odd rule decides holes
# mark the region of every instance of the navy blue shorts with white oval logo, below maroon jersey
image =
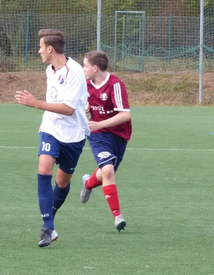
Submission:
[[116,172],[122,162],[127,142],[114,133],[91,133],[87,139],[99,168],[112,164]]

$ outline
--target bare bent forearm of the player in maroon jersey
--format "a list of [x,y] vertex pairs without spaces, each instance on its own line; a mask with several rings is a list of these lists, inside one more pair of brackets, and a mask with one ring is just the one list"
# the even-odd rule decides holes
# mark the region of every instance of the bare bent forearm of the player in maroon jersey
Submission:
[[109,128],[127,122],[130,120],[130,111],[119,111],[112,118],[100,122],[89,121],[90,131],[98,131],[100,129]]

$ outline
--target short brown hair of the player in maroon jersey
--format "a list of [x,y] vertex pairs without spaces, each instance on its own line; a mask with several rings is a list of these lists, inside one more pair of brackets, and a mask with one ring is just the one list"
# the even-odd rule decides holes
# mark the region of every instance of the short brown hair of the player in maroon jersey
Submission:
[[109,65],[109,60],[105,52],[100,52],[100,51],[87,52],[85,54],[85,58],[87,58],[87,60],[91,65],[93,66],[96,65],[102,72],[106,71]]

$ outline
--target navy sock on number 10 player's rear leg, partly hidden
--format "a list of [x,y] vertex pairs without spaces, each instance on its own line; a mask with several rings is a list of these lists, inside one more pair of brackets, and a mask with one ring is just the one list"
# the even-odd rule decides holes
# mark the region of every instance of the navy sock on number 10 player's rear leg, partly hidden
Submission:
[[61,188],[58,186],[58,184],[55,181],[55,187],[54,187],[54,208],[53,208],[53,214],[55,217],[56,211],[61,208],[63,205],[67,194],[69,193],[70,190],[70,183],[65,187]]

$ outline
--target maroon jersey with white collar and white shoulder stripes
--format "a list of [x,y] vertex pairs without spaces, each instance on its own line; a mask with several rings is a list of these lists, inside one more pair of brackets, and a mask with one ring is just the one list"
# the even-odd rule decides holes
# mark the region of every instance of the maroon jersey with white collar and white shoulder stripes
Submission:
[[[130,111],[128,95],[125,85],[117,76],[107,74],[106,80],[96,86],[92,80],[87,80],[88,102],[92,121],[103,121],[112,118],[119,111]],[[131,120],[128,122],[112,126],[92,133],[111,132],[130,140]]]

